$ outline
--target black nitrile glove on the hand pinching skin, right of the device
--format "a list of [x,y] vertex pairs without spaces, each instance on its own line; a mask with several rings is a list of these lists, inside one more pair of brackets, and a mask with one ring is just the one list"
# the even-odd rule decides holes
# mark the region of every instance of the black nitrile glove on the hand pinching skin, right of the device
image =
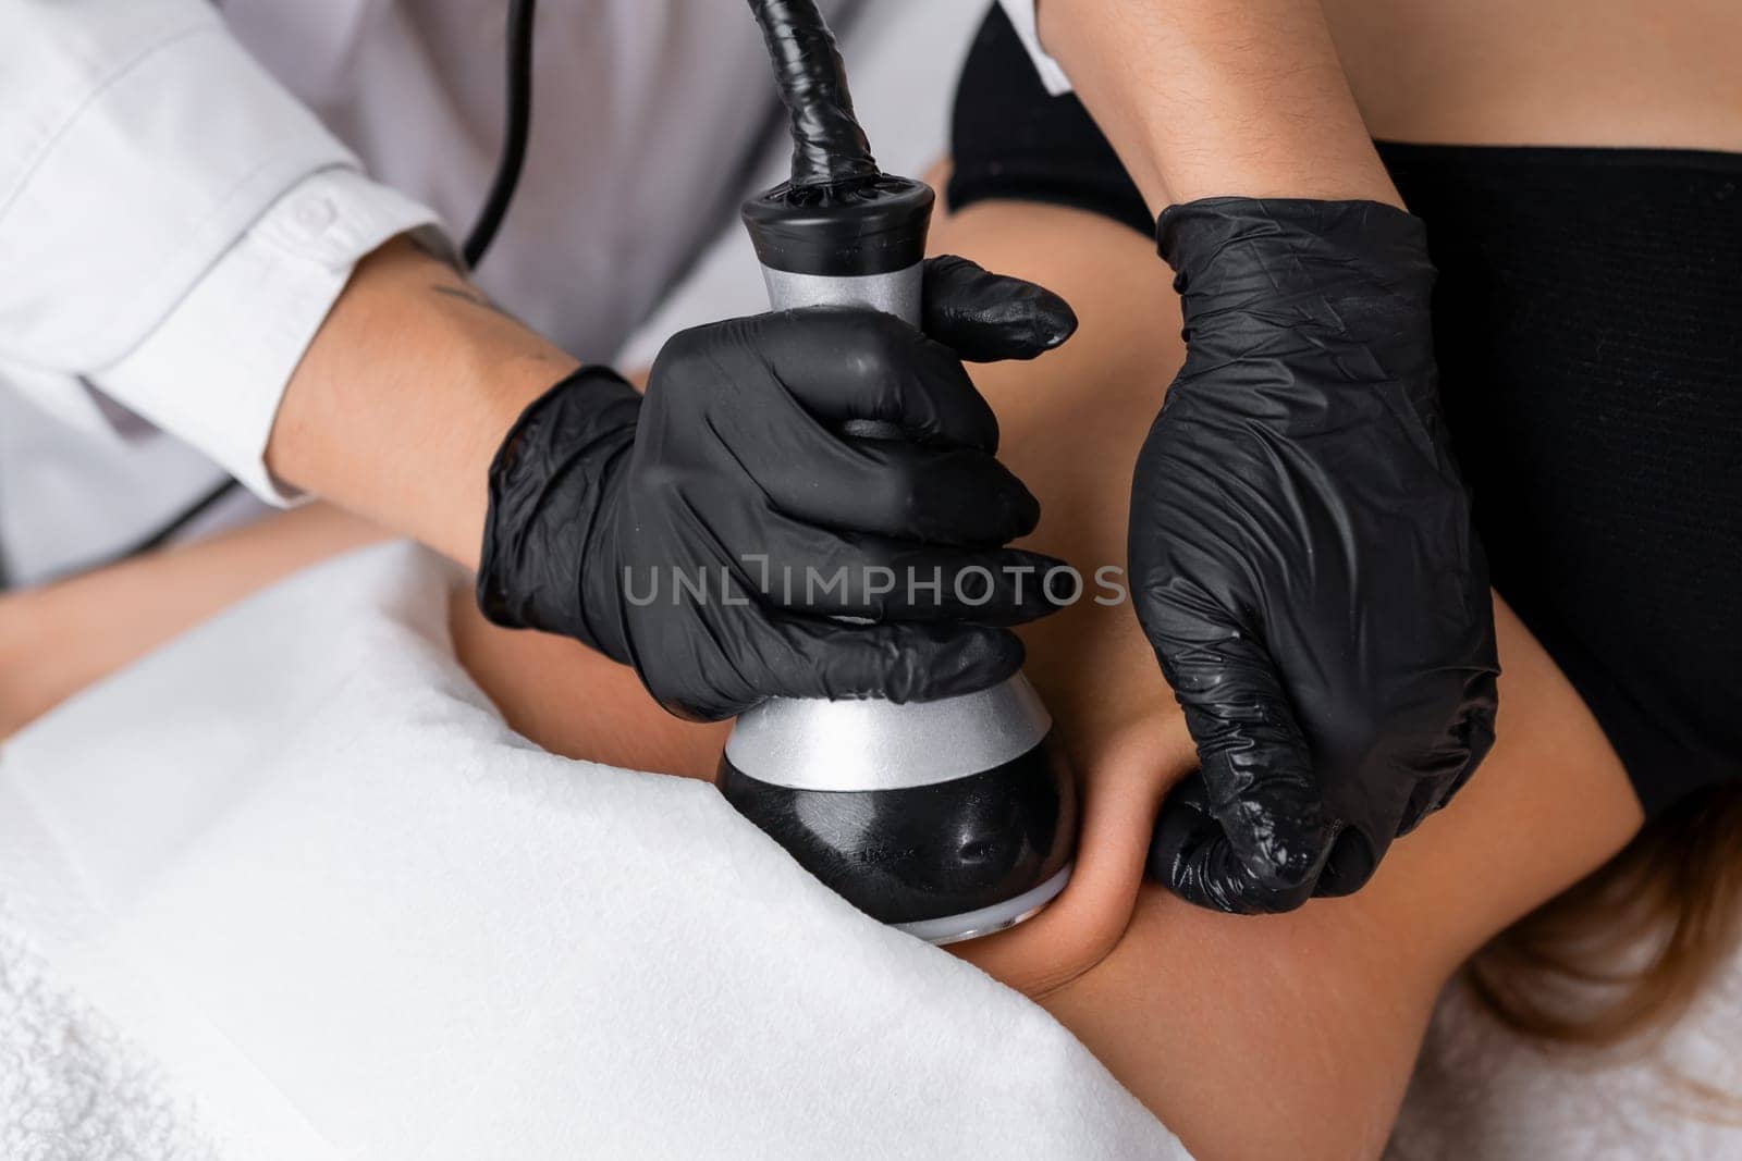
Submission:
[[1207,198],[1157,225],[1186,362],[1138,461],[1138,614],[1198,745],[1150,874],[1291,910],[1361,888],[1495,736],[1493,606],[1439,411],[1420,219]]

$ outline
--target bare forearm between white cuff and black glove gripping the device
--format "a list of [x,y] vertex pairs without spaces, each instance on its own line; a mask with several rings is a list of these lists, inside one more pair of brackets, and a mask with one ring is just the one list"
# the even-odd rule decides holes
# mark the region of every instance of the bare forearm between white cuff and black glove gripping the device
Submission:
[[267,466],[476,567],[490,461],[521,409],[575,366],[395,240],[359,263],[298,366]]

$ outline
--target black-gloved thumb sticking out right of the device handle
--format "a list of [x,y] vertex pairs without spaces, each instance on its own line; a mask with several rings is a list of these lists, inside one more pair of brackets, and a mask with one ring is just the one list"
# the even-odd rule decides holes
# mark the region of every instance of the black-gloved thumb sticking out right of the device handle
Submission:
[[925,263],[923,331],[969,362],[1033,359],[1077,332],[1052,291],[946,254]]

